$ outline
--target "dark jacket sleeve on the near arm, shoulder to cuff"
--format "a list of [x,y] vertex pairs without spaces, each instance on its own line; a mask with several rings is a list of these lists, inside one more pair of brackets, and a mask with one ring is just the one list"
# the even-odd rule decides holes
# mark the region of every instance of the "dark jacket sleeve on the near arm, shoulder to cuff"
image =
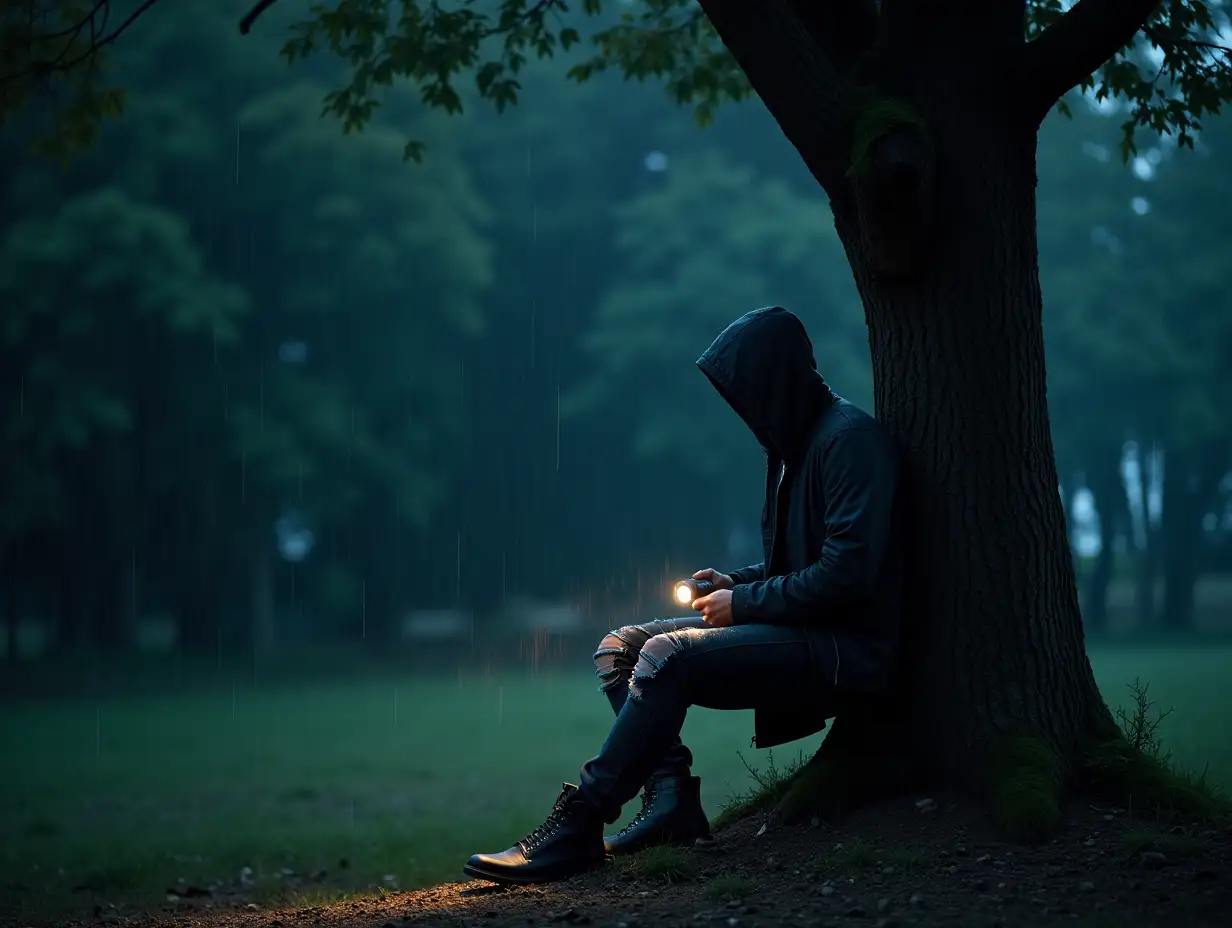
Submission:
[[737,625],[802,625],[872,592],[892,531],[898,461],[873,429],[849,428],[830,439],[804,474],[825,500],[825,542],[817,563],[732,590]]

